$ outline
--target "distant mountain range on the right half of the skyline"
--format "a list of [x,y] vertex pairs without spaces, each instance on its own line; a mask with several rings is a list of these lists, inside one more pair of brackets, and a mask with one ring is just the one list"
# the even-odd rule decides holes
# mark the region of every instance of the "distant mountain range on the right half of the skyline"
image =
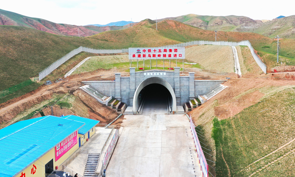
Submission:
[[187,14],[158,19],[158,22],[166,19],[189,24],[204,30],[255,32],[267,37],[279,35],[282,38],[295,38],[295,15],[272,20],[253,20],[249,17],[235,15],[207,16]]

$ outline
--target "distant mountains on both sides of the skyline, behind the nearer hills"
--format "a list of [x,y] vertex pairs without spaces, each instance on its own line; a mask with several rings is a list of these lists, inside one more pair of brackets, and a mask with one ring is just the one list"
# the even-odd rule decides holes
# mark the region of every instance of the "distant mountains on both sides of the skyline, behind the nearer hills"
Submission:
[[[253,20],[245,16],[207,16],[187,14],[178,17],[158,19],[175,20],[204,30],[254,32],[267,37],[279,35],[282,38],[295,38],[295,15],[279,16],[272,20]],[[132,22],[133,25],[137,24]],[[93,24],[77,26],[58,24],[45,19],[27,17],[0,9],[0,25],[14,25],[34,28],[44,32],[64,36],[91,36],[109,30],[123,30],[131,27],[131,21],[112,22],[106,25]]]

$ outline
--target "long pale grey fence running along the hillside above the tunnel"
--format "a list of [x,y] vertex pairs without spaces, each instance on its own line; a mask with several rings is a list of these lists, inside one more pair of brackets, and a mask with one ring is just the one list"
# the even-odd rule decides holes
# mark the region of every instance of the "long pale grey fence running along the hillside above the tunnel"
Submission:
[[[191,42],[184,42],[174,45],[166,45],[161,47],[186,47],[189,45],[229,45],[229,46],[237,46],[237,45],[246,45],[249,47],[251,54],[258,64],[258,66],[262,69],[264,73],[266,73],[266,65],[260,60],[260,58],[256,55],[254,52],[254,48],[252,47],[251,43],[248,40],[240,41],[240,42],[228,42],[228,41],[191,41]],[[48,74],[50,74],[53,70],[58,68],[60,65],[65,63],[67,60],[75,56],[76,54],[80,52],[88,52],[88,53],[127,53],[128,49],[91,49],[88,47],[79,47],[77,49],[72,50],[59,60],[52,63],[50,66],[45,68],[43,71],[39,73],[39,81],[43,78],[45,78]]]

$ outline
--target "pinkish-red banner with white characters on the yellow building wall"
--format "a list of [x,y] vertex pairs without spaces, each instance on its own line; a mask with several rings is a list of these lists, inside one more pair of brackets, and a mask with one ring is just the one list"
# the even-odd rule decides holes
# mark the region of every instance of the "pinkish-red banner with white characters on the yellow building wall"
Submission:
[[65,140],[55,146],[55,162],[77,144],[77,136],[78,131],[74,132],[72,135],[68,136]]

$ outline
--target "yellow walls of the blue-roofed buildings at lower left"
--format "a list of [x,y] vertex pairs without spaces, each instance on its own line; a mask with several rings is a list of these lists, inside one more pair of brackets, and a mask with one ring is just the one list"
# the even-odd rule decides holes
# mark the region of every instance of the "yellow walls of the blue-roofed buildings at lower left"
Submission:
[[[78,136],[77,136],[78,138]],[[62,157],[60,157],[55,162],[55,147],[50,150],[48,153],[43,155],[41,158],[39,158],[35,163],[30,165],[28,168],[26,168],[24,171],[21,171],[16,177],[24,177],[22,176],[22,173],[25,173],[25,177],[45,177],[45,165],[53,159],[53,169],[55,170],[55,166],[61,165],[67,158],[69,158],[77,149],[79,148],[79,142],[77,141],[77,144],[74,145],[68,152],[66,152]],[[36,166],[35,167],[33,166]],[[32,174],[32,168],[34,170],[34,174]],[[61,169],[59,169],[61,170]]]

